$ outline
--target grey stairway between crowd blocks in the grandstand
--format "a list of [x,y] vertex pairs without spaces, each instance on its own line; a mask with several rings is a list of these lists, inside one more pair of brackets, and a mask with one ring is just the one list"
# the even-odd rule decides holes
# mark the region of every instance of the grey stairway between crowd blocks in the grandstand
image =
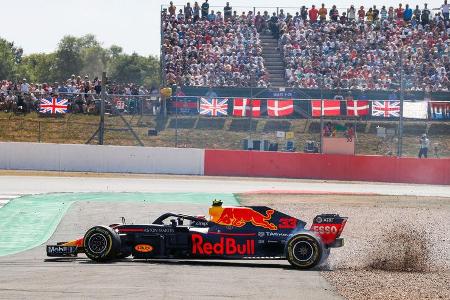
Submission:
[[278,40],[270,33],[261,33],[259,35],[262,46],[262,57],[264,66],[269,73],[269,82],[273,87],[285,87],[284,78],[285,68],[281,52],[278,49]]

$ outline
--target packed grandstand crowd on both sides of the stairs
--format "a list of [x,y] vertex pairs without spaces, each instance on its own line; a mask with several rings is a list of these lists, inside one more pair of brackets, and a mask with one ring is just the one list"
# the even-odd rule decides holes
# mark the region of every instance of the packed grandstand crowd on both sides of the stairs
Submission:
[[450,5],[378,8],[301,7],[238,14],[194,2],[162,11],[166,83],[183,86],[270,86],[260,33],[279,42],[288,86],[448,91]]

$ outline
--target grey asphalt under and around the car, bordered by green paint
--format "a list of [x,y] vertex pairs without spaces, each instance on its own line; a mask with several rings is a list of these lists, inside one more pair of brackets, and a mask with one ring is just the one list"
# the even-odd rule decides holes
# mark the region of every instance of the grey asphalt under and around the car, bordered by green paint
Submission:
[[[205,205],[77,202],[49,243],[76,238],[91,226],[149,222],[166,211],[204,214]],[[340,299],[317,271],[285,261],[133,261],[57,259],[39,246],[0,258],[0,299]]]

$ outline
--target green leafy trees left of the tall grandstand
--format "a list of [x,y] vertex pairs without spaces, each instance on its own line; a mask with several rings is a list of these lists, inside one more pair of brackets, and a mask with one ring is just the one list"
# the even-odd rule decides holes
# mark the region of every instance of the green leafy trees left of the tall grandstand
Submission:
[[106,71],[110,80],[139,85],[159,85],[159,59],[123,53],[117,45],[104,48],[92,34],[67,35],[53,53],[22,56],[22,49],[0,38],[0,80],[27,78],[30,82],[64,81],[72,74],[90,78]]

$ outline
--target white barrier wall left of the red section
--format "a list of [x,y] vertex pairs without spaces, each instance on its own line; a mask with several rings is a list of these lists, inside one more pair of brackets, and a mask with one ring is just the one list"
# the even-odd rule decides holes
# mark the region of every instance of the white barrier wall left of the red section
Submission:
[[203,175],[203,149],[0,142],[0,169]]

